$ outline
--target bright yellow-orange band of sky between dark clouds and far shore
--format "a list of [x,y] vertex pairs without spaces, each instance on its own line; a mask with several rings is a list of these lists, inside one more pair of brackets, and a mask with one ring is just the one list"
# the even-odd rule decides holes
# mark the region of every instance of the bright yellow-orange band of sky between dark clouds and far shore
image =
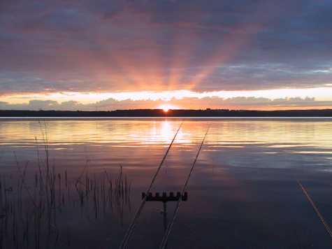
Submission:
[[[331,109],[332,87],[256,91],[191,92],[42,92],[39,94],[5,94],[2,109],[44,110],[115,109],[229,109],[229,110],[296,110]],[[53,101],[53,102],[50,102]],[[51,105],[52,104],[52,105]]]

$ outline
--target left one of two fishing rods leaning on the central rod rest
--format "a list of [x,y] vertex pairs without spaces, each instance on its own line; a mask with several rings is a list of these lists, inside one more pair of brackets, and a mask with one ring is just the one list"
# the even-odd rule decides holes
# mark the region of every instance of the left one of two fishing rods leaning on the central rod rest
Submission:
[[129,226],[129,229],[128,229],[128,231],[127,231],[127,234],[124,236],[124,239],[123,239],[123,241],[122,241],[121,246],[120,246],[119,249],[124,249],[124,248],[127,246],[127,242],[128,242],[128,240],[129,240],[129,237],[131,236],[131,232],[133,232],[133,228],[134,228],[135,225],[136,225],[136,222],[137,222],[137,220],[138,220],[138,217],[140,216],[140,213],[141,213],[142,210],[143,210],[143,207],[144,207],[144,204],[145,204],[145,202],[146,202],[147,196],[148,196],[149,193],[151,192],[152,186],[154,185],[154,182],[155,182],[156,179],[157,179],[157,176],[158,176],[158,173],[159,173],[159,171],[160,171],[160,169],[161,169],[161,166],[164,164],[164,161],[165,161],[165,159],[166,159],[166,156],[167,156],[167,154],[168,154],[168,151],[171,149],[171,146],[173,145],[173,142],[174,142],[174,140],[175,140],[175,137],[176,137],[176,135],[178,135],[178,132],[180,131],[180,128],[182,127],[183,122],[185,122],[185,119],[182,120],[182,123],[181,123],[181,125],[180,125],[178,131],[176,131],[175,136],[174,136],[174,138],[173,138],[171,144],[168,146],[168,150],[166,151],[166,154],[164,155],[164,158],[162,159],[162,161],[161,161],[161,163],[160,163],[160,165],[159,165],[159,167],[158,167],[158,169],[157,169],[157,172],[154,174],[154,178],[152,179],[152,182],[151,182],[150,186],[147,188],[147,191],[145,192],[145,197],[144,197],[144,198],[142,199],[142,201],[140,202],[140,206],[139,206],[139,208],[138,208],[138,210],[137,210],[137,212],[136,212],[136,215],[135,215],[135,217],[133,218],[133,220],[131,221],[131,225]]

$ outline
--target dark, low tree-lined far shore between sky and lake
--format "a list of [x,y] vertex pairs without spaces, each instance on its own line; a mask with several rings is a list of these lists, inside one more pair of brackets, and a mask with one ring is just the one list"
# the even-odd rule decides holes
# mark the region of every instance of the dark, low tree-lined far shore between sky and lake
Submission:
[[0,110],[0,118],[329,118],[332,109],[247,111],[227,109],[168,110],[136,109],[117,111],[24,111]]

